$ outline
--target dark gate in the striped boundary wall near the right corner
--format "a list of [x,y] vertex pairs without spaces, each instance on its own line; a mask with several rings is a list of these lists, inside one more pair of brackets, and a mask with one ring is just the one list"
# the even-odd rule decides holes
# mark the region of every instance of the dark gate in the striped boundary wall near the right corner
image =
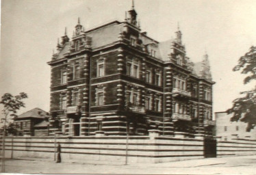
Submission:
[[205,138],[203,140],[203,154],[205,158],[216,157],[216,154],[217,154],[216,147],[217,147],[216,139]]

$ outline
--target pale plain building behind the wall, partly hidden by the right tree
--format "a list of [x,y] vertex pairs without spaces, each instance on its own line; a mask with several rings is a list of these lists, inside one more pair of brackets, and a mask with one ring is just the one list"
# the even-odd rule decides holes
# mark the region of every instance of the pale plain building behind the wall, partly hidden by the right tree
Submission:
[[216,137],[222,141],[231,139],[256,139],[256,129],[246,131],[247,124],[244,122],[231,122],[233,113],[216,112]]

